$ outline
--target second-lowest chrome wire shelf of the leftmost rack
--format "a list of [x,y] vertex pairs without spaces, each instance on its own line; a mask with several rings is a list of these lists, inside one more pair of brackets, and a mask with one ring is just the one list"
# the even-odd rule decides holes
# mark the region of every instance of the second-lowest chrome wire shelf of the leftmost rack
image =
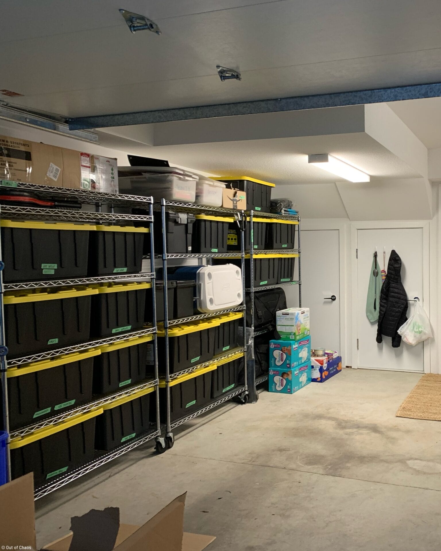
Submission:
[[141,390],[146,390],[147,388],[155,387],[157,385],[158,385],[158,379],[152,379],[149,381],[138,383],[135,386],[127,387],[125,390],[114,392],[109,396],[101,396],[99,398],[96,398],[93,402],[88,402],[87,404],[83,404],[82,406],[79,406],[77,408],[69,409],[67,412],[60,413],[55,417],[44,419],[39,423],[33,423],[32,425],[24,426],[23,428],[20,428],[20,429],[14,429],[11,431],[10,437],[11,439],[13,439],[13,438],[25,436],[26,434],[33,433],[35,430],[44,429],[47,426],[52,426],[52,425],[55,425],[56,423],[61,423],[62,421],[66,421],[67,419],[75,417],[76,415],[80,415],[82,413],[89,412],[92,409],[105,406],[105,404],[111,404],[112,402],[116,402],[120,398],[126,398],[127,396],[132,396],[133,394],[136,394]]

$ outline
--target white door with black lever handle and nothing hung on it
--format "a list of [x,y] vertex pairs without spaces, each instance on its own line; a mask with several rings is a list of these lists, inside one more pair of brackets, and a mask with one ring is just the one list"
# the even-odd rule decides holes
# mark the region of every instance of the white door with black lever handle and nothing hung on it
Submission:
[[[298,289],[284,289],[288,306],[298,306]],[[302,230],[302,306],[309,308],[313,348],[341,352],[338,230]]]

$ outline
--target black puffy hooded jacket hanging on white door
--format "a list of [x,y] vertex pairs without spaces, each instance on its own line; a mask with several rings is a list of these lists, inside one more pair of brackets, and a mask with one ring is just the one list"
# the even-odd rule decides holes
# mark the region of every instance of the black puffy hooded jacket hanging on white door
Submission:
[[401,258],[396,251],[389,257],[388,274],[380,293],[380,314],[378,316],[377,342],[383,342],[381,335],[392,337],[392,348],[399,348],[401,337],[398,329],[407,320],[407,295],[401,283]]

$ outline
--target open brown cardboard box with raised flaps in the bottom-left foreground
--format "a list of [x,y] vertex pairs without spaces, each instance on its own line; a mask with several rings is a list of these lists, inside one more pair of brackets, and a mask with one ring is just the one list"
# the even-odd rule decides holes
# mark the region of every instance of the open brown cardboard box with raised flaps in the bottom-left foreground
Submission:
[[[120,524],[118,507],[91,509],[71,519],[72,532],[45,545],[48,551],[202,551],[214,536],[184,532],[186,494],[142,526]],[[146,505],[147,510],[147,505]],[[0,544],[6,549],[36,549],[32,473],[0,486]]]

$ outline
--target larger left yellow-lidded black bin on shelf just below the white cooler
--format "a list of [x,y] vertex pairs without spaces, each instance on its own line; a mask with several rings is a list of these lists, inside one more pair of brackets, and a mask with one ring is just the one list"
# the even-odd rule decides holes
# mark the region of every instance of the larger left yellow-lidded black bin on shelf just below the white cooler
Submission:
[[[197,364],[209,361],[214,355],[216,327],[219,320],[208,320],[182,323],[169,328],[169,364],[170,373],[177,373],[192,368]],[[148,371],[153,372],[153,345],[149,345],[147,354]],[[159,371],[165,371],[165,338],[164,329],[158,330],[158,364]]]

